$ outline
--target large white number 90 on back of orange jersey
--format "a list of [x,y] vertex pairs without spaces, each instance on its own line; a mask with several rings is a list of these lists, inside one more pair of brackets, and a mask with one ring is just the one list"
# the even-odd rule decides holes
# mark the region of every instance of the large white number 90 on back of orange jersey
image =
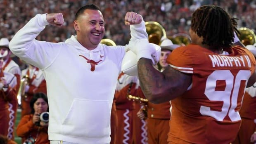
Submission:
[[[240,87],[241,81],[248,80],[251,72],[248,70],[240,70],[234,76],[230,70],[216,70],[206,80],[206,88],[204,94],[210,101],[223,101],[221,111],[213,111],[211,107],[201,106],[200,113],[203,116],[211,116],[218,121],[223,121],[228,115],[231,121],[241,120],[237,107],[237,99],[239,90],[243,91],[245,87]],[[224,91],[216,91],[216,81],[225,80],[226,87]],[[246,82],[247,83],[247,82]]]

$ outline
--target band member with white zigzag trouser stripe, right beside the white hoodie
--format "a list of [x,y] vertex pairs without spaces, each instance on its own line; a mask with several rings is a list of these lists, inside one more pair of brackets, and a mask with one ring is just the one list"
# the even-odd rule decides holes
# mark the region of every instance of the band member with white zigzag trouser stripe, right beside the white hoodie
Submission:
[[133,140],[133,115],[134,102],[127,99],[127,94],[134,95],[136,92],[135,76],[121,73],[116,85],[116,113],[118,118],[118,129],[116,132],[116,144],[132,144]]

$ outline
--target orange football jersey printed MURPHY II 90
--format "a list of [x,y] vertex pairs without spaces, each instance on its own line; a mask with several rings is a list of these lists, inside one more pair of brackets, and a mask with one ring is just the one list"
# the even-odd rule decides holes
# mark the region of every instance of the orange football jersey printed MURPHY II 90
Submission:
[[229,144],[239,130],[239,109],[255,58],[240,46],[216,54],[199,45],[179,47],[167,63],[190,74],[192,84],[173,99],[168,142],[173,144]]

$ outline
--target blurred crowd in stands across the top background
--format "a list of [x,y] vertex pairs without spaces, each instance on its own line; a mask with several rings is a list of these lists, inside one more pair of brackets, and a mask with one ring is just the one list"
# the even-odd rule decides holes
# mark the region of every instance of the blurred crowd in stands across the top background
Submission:
[[62,28],[47,26],[38,40],[51,42],[65,41],[74,35],[73,20],[82,5],[93,3],[103,12],[105,38],[114,40],[117,45],[125,45],[130,39],[130,30],[124,25],[127,11],[142,14],[145,21],[157,21],[167,35],[188,33],[192,12],[201,5],[218,5],[238,18],[238,27],[256,30],[256,0],[1,0],[0,37],[12,36],[38,13],[64,14]]

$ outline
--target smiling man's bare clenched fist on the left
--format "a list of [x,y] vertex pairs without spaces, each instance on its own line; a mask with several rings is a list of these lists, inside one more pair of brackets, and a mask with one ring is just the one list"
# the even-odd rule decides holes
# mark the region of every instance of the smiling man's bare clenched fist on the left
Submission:
[[62,13],[52,13],[52,14],[46,14],[46,20],[49,24],[53,26],[63,26],[64,24],[64,18]]

